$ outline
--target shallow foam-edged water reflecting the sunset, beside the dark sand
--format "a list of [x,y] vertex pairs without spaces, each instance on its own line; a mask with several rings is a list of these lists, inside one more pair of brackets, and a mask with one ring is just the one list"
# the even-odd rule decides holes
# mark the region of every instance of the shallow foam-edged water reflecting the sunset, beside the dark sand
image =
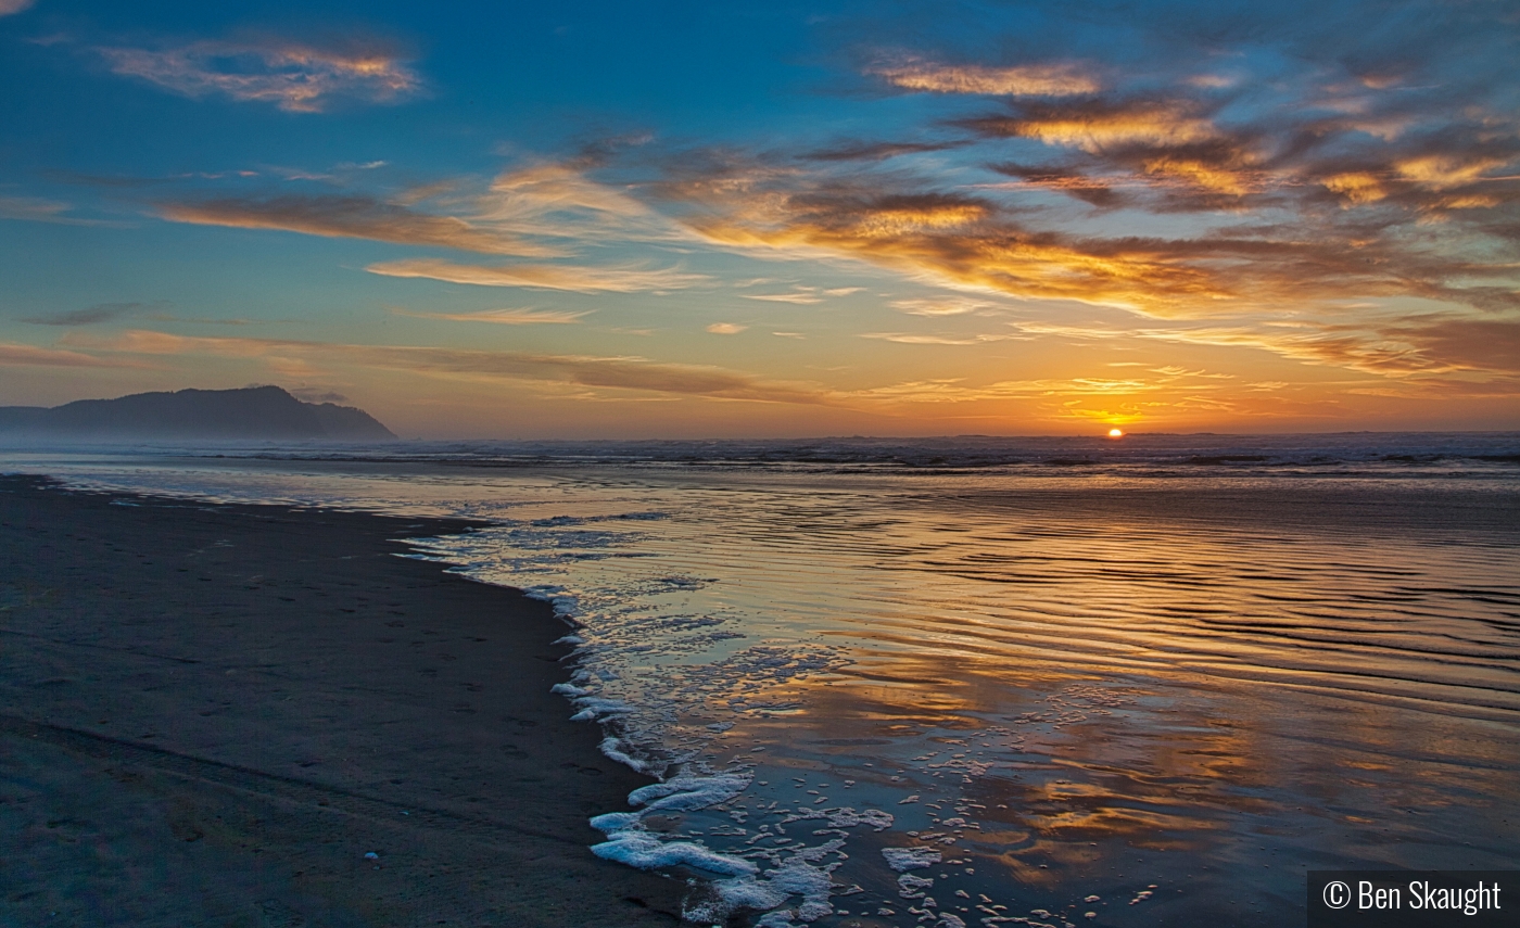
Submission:
[[423,556],[575,623],[567,714],[661,778],[596,852],[698,923],[1280,925],[1520,852],[1505,469],[33,469],[489,519]]

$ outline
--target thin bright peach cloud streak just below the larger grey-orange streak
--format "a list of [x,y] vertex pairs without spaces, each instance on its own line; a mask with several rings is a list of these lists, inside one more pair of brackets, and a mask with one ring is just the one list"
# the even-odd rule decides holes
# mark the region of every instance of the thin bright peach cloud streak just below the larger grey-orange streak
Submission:
[[707,281],[699,273],[675,269],[573,267],[568,264],[456,264],[438,258],[382,261],[365,267],[382,276],[427,278],[476,287],[534,287],[575,293],[634,293],[638,290],[679,290]]

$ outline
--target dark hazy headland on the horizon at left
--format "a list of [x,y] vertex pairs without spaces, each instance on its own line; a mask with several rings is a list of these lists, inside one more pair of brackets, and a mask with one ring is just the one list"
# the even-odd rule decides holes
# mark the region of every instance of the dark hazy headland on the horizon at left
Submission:
[[385,440],[395,434],[351,406],[301,402],[280,387],[132,393],[52,409],[0,406],[0,439],[17,437]]

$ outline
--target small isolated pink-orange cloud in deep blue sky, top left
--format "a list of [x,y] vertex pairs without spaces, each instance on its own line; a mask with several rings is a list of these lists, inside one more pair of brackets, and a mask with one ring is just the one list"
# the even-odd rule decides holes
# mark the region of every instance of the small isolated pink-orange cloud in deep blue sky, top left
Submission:
[[114,73],[185,97],[272,103],[287,112],[321,112],[334,100],[398,103],[423,93],[416,71],[380,44],[319,47],[260,38],[96,52]]

